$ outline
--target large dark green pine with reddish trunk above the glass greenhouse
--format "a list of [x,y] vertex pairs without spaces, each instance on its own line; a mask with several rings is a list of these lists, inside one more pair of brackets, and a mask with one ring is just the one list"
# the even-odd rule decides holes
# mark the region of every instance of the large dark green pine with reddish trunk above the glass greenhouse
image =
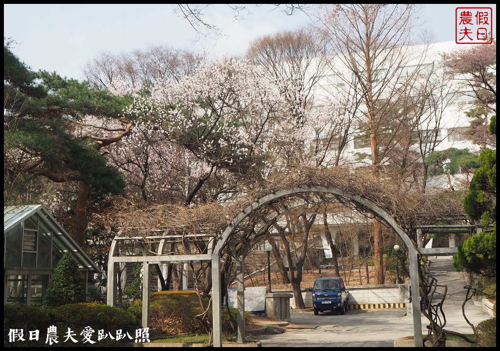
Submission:
[[88,82],[33,72],[4,44],[4,204],[40,202],[50,184],[76,184],[68,231],[84,247],[90,204],[122,194],[121,173],[101,148],[119,141],[132,123],[116,97]]

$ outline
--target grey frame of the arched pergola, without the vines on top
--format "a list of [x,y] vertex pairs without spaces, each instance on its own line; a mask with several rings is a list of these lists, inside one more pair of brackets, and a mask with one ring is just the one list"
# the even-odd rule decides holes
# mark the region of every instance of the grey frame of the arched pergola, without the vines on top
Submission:
[[[314,196],[309,196],[313,194]],[[108,259],[108,295],[107,303],[109,305],[115,305],[116,296],[113,293],[115,289],[116,282],[113,280],[115,276],[116,263],[118,262],[143,262],[144,264],[158,263],[158,262],[209,262],[212,268],[212,297],[213,297],[213,343],[215,347],[221,347],[221,290],[220,290],[220,254],[222,250],[231,245],[231,240],[234,238],[235,233],[244,232],[245,234],[241,237],[243,240],[244,250],[240,250],[239,253],[244,253],[247,248],[251,245],[251,242],[258,238],[260,234],[263,233],[265,226],[274,221],[279,215],[284,212],[293,209],[298,206],[303,206],[307,204],[315,204],[320,202],[338,202],[339,197],[347,199],[347,201],[354,204],[357,210],[369,211],[376,216],[382,218],[403,240],[405,246],[408,248],[409,260],[410,260],[410,280],[411,289],[413,291],[419,291],[418,285],[418,255],[419,252],[417,245],[410,239],[407,234],[407,230],[403,229],[403,226],[397,222],[393,215],[386,212],[380,206],[375,204],[372,200],[367,200],[366,198],[350,194],[348,191],[342,190],[338,187],[325,186],[325,185],[301,185],[290,187],[287,190],[278,190],[271,192],[267,195],[263,195],[260,198],[256,198],[250,205],[241,210],[234,219],[227,224],[227,227],[222,232],[222,234],[205,234],[204,238],[208,241],[208,249],[206,254],[194,254],[194,255],[165,255],[164,248],[167,243],[168,236],[157,237],[137,237],[137,239],[156,239],[159,241],[157,246],[157,252],[154,256],[147,257],[119,257],[117,255],[118,242],[121,240],[127,240],[130,238],[119,238],[116,237],[111,245]],[[287,202],[288,201],[288,202]],[[251,228],[245,223],[245,221],[251,222]],[[198,238],[203,236],[198,235]],[[235,253],[234,250],[231,250]],[[240,274],[242,278],[242,258],[238,257],[236,262],[239,268],[238,275]],[[144,270],[143,276],[143,315],[142,315],[142,325],[148,326],[149,324],[149,296],[147,294],[149,287],[148,285],[148,270]],[[243,299],[242,295],[242,281],[238,279],[238,311],[241,310],[240,303]],[[420,302],[418,299],[412,300],[412,310],[420,310]],[[421,320],[419,314],[413,314],[413,325],[414,325],[414,340],[415,347],[422,346],[422,335],[421,335]],[[241,328],[241,329],[240,329]],[[241,333],[243,332],[243,333]],[[240,321],[240,315],[238,314],[238,336],[244,336],[244,321]],[[238,337],[238,342],[240,338]]]

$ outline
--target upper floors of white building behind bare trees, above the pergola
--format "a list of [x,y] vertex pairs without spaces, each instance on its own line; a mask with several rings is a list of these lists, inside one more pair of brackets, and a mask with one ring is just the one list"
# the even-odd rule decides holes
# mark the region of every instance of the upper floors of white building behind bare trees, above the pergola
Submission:
[[[404,62],[404,66],[395,67],[393,64],[392,67],[379,68],[378,71],[372,73],[373,90],[377,95],[374,100],[379,104],[380,109],[384,108],[386,101],[387,105],[391,106],[400,106],[404,103],[407,103],[407,106],[414,105],[411,111],[408,107],[401,108],[408,108],[406,119],[402,115],[398,117],[400,121],[408,124],[406,131],[412,144],[409,150],[414,153],[414,157],[420,158],[415,159],[414,162],[421,163],[431,151],[440,152],[450,148],[467,149],[474,153],[480,151],[480,145],[474,144],[466,135],[471,122],[471,117],[467,116],[466,112],[474,106],[473,91],[463,84],[461,79],[463,77],[457,79],[442,63],[442,54],[462,49],[464,46],[471,47],[472,45],[459,45],[454,41],[449,41],[410,46],[409,50],[401,49],[408,59],[395,60],[395,62]],[[340,158],[354,167],[371,165],[368,132],[366,129],[363,131],[361,126],[363,122],[366,123],[367,108],[362,94],[357,93],[356,96],[356,91],[359,91],[356,87],[359,84],[356,84],[356,74],[346,69],[340,58],[334,58],[332,62],[330,66],[333,68],[320,80],[321,88],[316,89],[316,93],[330,101],[338,99],[340,104],[346,104],[344,115],[351,114],[349,122],[354,127],[349,134],[346,147],[340,151]],[[381,64],[379,67],[383,66]],[[361,75],[363,73],[361,72]],[[413,100],[401,102],[403,98]],[[353,107],[356,99],[358,105]],[[320,105],[323,103],[322,98],[316,101],[320,101]],[[415,112],[416,108],[419,110]],[[389,128],[384,127],[384,123],[381,119],[380,130],[390,133],[390,130],[384,129]],[[392,120],[387,123],[396,123],[396,121]],[[401,129],[400,136],[393,138],[391,142],[404,142],[404,131],[405,129]],[[334,157],[333,154],[337,152],[336,145],[333,143],[330,147],[332,157]],[[381,162],[385,163],[383,158]],[[433,165],[430,165],[430,169],[432,167]],[[429,179],[427,187],[429,191],[435,187],[443,189],[443,187],[453,186],[456,189],[466,184],[462,181],[464,177],[471,177],[471,173],[465,174],[458,171],[450,174],[451,183],[455,180],[456,185],[452,185],[446,175],[433,177]]]

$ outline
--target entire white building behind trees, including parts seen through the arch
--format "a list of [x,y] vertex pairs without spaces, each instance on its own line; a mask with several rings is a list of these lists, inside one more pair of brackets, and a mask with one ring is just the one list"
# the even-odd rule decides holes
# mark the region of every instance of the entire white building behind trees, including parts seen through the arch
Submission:
[[[428,46],[415,45],[405,51],[405,54],[413,58],[408,59],[404,66],[388,68],[386,71],[380,69],[379,72],[374,73],[373,83],[383,84],[388,90],[384,91],[382,85],[376,86],[375,90],[379,94],[377,99],[379,102],[385,102],[384,99],[387,99],[387,101],[397,99],[397,97],[404,96],[404,93],[407,96],[414,97],[415,100],[424,97],[419,106],[421,109],[410,116],[409,120],[414,124],[410,125],[407,130],[411,137],[409,150],[412,151],[412,155],[415,157],[415,163],[421,164],[423,159],[432,151],[442,152],[454,148],[459,150],[467,149],[478,154],[481,149],[481,146],[472,142],[470,136],[467,135],[472,118],[467,116],[466,112],[474,107],[474,93],[470,87],[463,84],[463,77],[457,79],[456,75],[453,76],[453,72],[449,71],[442,63],[442,54],[462,49],[465,46],[473,47],[473,45],[459,45],[454,41],[433,43]],[[315,92],[319,96],[324,96],[325,100],[337,99],[339,103],[351,104],[344,111],[346,114],[352,113],[350,122],[352,122],[354,128],[349,133],[348,140],[346,140],[346,147],[340,151],[340,159],[353,167],[369,166],[371,165],[369,138],[367,132],[363,132],[361,126],[363,120],[366,120],[367,108],[363,97],[360,94],[356,96],[355,93],[356,74],[346,69],[340,59],[334,58],[333,62],[330,64],[331,71],[327,72],[320,80],[320,88],[316,89]],[[392,69],[392,73],[388,72],[390,69]],[[387,79],[388,76],[392,80]],[[406,89],[403,89],[402,87],[405,84],[407,84]],[[394,90],[398,89],[400,90],[397,93],[393,93]],[[414,95],[412,96],[412,94]],[[421,96],[419,97],[418,94]],[[354,97],[360,103],[349,111],[348,108],[354,104]],[[397,101],[392,100],[390,103],[397,106]],[[316,104],[323,107],[326,102],[319,98],[316,99]],[[402,142],[404,136],[394,140]],[[338,152],[338,149],[336,149],[337,145],[335,143],[330,146],[330,157],[333,158],[336,156],[335,153]],[[360,157],[360,155],[362,156]],[[384,160],[382,159],[383,163]],[[446,160],[442,160],[441,166],[445,163]],[[428,171],[431,171],[432,167],[433,165],[429,164]],[[427,179],[426,191],[432,192],[435,189],[442,191],[449,188],[458,190],[467,186],[467,180],[470,180],[471,176],[472,171],[465,168],[451,174],[434,175]],[[346,211],[345,214],[345,218],[340,218],[341,216],[338,213],[335,216],[328,215],[330,230],[335,237],[335,234],[348,231],[348,228],[351,228],[351,231],[356,231],[355,227],[357,226],[358,232],[353,233],[351,237],[351,245],[356,256],[364,249],[362,243],[364,239],[362,237],[368,231],[363,231],[362,226],[366,228],[368,223],[366,218],[361,215],[349,213],[349,211]],[[318,221],[317,226],[322,227],[322,222]],[[326,240],[321,239],[324,256],[331,258],[331,251]],[[427,242],[423,244],[425,245]]]

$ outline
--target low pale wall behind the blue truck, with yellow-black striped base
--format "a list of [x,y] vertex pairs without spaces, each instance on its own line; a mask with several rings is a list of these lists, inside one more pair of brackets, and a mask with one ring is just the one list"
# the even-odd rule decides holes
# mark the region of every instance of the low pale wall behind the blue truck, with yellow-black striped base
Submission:
[[[404,308],[404,304],[409,302],[408,284],[347,286],[345,290],[349,292],[350,309],[373,308],[365,305],[390,305],[379,307]],[[272,292],[293,294],[291,289],[277,289]],[[308,289],[302,289],[302,299],[306,308],[312,308],[312,292]],[[295,309],[294,298],[290,299],[290,307]]]

